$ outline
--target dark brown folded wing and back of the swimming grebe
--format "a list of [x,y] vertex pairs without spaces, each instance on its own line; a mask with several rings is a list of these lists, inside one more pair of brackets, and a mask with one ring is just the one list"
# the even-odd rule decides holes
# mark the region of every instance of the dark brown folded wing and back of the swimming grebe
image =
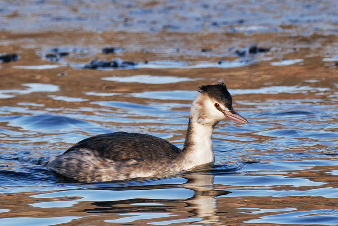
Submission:
[[114,161],[170,159],[181,152],[175,145],[162,138],[148,134],[115,132],[86,138],[63,154],[81,148]]

